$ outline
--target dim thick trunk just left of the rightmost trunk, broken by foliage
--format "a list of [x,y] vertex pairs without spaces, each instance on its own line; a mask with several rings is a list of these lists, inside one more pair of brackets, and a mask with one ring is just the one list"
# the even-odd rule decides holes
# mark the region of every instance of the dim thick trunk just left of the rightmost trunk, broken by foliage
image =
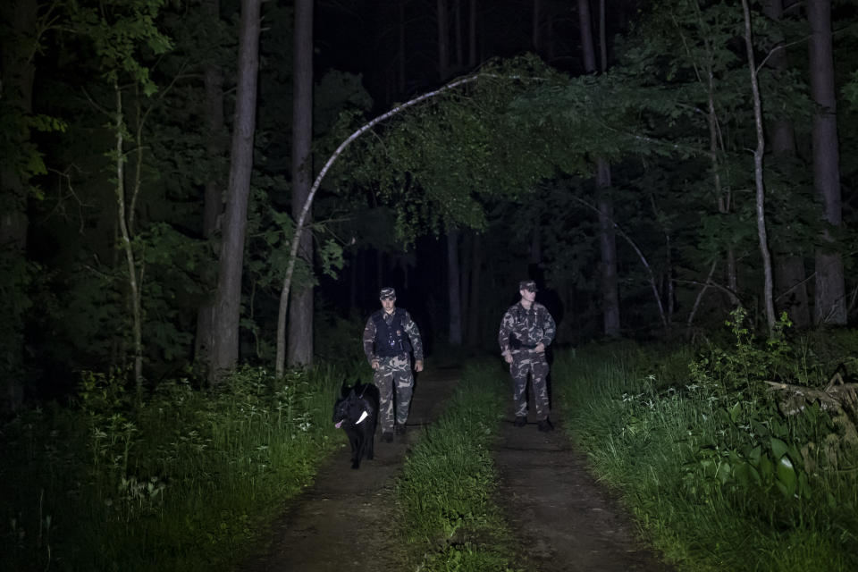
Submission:
[[[783,17],[782,0],[766,0],[763,12],[773,21]],[[775,46],[770,53],[767,65],[776,78],[787,72],[787,46]],[[775,161],[782,164],[795,160],[795,130],[787,117],[775,117],[770,122],[771,154]],[[805,285],[804,259],[801,252],[782,252],[774,258],[775,292],[777,309],[787,311],[793,324],[798,328],[811,325],[811,308]],[[780,302],[778,304],[778,301]]]

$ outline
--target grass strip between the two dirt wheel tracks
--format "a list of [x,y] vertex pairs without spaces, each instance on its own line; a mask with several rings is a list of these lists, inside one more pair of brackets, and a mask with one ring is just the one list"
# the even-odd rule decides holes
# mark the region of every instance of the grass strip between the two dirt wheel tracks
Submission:
[[467,366],[441,418],[409,453],[396,487],[400,529],[412,555],[406,569],[515,569],[515,543],[493,501],[501,390],[495,367]]

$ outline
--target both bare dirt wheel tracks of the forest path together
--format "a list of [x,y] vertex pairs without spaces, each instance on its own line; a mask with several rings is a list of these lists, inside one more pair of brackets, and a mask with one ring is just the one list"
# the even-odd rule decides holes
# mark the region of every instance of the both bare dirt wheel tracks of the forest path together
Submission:
[[[375,458],[359,470],[348,445],[329,458],[315,484],[273,527],[272,541],[240,572],[404,572],[391,525],[393,485],[409,442],[440,415],[458,382],[457,369],[434,369],[417,379],[408,435],[393,443],[376,439]],[[559,418],[559,416],[558,416]],[[539,433],[535,423],[502,424],[495,460],[501,474],[500,503],[525,551],[526,572],[666,572],[635,543],[633,526],[587,474],[585,458],[570,447],[562,427]]]

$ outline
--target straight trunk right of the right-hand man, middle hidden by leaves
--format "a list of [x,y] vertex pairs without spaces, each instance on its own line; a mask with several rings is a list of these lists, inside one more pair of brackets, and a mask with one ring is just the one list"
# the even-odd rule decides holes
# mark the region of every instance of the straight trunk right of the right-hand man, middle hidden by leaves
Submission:
[[[587,73],[597,71],[590,0],[578,0],[581,50]],[[604,70],[602,70],[604,71]],[[610,198],[610,164],[596,158],[596,203],[599,209],[599,251],[601,255],[601,310],[605,335],[619,335],[619,283],[617,278],[617,237],[614,233],[613,203]]]

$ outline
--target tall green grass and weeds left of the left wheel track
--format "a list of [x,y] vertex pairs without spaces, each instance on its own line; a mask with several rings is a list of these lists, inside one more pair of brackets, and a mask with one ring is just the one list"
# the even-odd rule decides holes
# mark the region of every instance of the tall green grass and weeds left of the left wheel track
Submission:
[[248,368],[218,391],[163,383],[134,408],[89,376],[80,407],[3,427],[0,569],[229,568],[337,442],[340,382]]

